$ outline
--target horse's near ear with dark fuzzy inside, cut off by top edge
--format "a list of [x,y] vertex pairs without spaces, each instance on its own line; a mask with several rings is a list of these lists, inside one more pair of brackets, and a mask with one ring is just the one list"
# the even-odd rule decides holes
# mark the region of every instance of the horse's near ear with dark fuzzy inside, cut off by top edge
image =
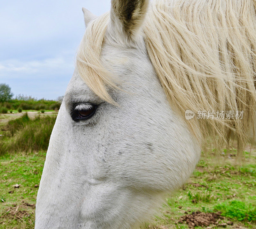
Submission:
[[[149,0],[111,0],[110,25],[116,35],[134,38],[145,18]],[[120,34],[122,33],[122,34]]]

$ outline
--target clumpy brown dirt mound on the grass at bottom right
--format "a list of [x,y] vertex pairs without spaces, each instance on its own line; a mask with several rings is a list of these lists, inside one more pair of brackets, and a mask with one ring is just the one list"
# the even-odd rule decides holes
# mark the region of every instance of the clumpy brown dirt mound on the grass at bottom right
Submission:
[[224,219],[220,211],[217,212],[201,212],[196,211],[191,214],[180,217],[179,223],[186,222],[188,227],[194,228],[195,226],[208,227],[210,225],[218,225],[220,227],[226,227],[226,223],[221,223],[220,220]]

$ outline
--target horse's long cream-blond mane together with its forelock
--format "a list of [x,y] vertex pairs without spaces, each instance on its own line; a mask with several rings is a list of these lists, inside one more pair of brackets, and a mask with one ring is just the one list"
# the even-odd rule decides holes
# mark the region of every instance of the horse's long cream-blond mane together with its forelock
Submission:
[[[156,0],[143,26],[149,58],[172,108],[185,111],[244,111],[243,119],[187,120],[191,132],[209,137],[215,147],[230,135],[242,150],[256,107],[256,1]],[[113,86],[100,52],[109,14],[87,27],[77,54],[77,69],[93,92],[113,102]],[[198,135],[198,132],[200,133]]]

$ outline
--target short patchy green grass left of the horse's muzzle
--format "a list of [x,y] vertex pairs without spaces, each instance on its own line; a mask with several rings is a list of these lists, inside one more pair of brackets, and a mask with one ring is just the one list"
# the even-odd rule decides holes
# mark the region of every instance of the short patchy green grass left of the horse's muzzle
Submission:
[[[45,155],[45,152],[38,152],[34,155],[0,157],[0,198],[4,200],[0,201],[1,229],[34,228],[35,207],[27,203],[36,203],[38,188],[35,185],[39,185]],[[15,184],[19,184],[20,188],[13,188]],[[24,211],[25,215],[22,214]]]

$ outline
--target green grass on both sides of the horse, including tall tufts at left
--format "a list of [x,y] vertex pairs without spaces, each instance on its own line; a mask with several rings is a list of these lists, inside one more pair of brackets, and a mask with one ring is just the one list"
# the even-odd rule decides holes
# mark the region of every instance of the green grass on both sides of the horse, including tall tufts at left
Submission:
[[[55,117],[31,119],[24,114],[1,126],[5,151],[0,155],[0,229],[34,228],[35,185],[40,182]],[[235,158],[216,161],[203,156],[187,184],[166,196],[160,214],[141,228],[187,229],[187,224],[177,221],[193,211],[221,211],[225,217],[221,222],[234,222],[228,229],[256,228],[256,151],[245,152],[242,165]],[[15,184],[20,188],[13,188]]]

